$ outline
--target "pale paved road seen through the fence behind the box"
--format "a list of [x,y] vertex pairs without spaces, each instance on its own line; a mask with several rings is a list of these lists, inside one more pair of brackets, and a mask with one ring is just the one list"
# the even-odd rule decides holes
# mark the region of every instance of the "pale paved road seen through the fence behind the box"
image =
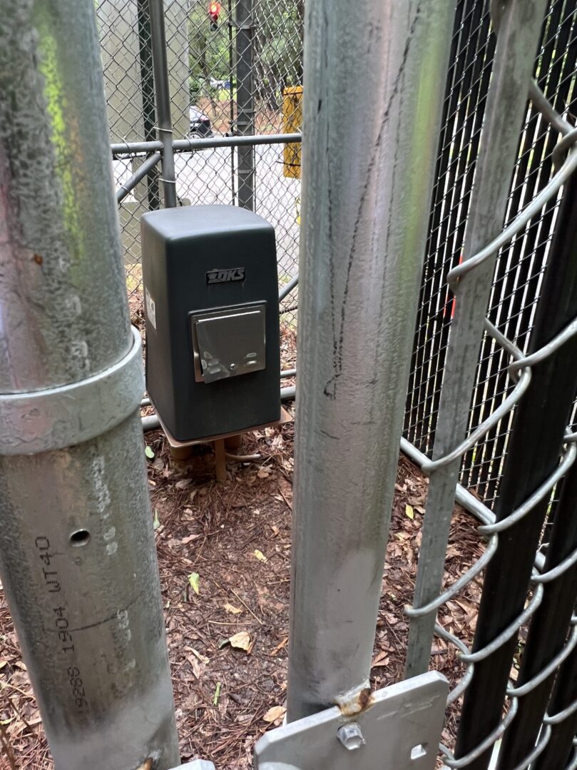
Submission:
[[[236,156],[236,153],[235,153]],[[132,173],[130,163],[115,161],[115,182],[119,186]],[[190,203],[233,203],[231,149],[218,147],[175,156],[176,192]],[[278,275],[282,281],[298,272],[299,225],[296,221],[299,179],[282,173],[282,146],[255,147],[256,213],[275,226]],[[235,178],[235,186],[238,184]],[[134,198],[128,196],[127,203]]]

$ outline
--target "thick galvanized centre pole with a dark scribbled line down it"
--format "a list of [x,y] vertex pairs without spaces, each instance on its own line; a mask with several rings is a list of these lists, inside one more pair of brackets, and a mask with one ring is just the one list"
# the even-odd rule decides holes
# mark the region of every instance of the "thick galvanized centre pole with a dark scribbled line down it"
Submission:
[[366,704],[454,9],[305,13],[289,721]]

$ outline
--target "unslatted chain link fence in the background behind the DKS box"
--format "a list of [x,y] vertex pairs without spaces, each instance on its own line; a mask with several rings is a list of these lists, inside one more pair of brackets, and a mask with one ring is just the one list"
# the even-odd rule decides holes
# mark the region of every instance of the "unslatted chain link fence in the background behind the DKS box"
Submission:
[[[165,2],[172,138],[226,140],[282,132],[285,89],[302,83],[303,14],[302,0]],[[125,152],[117,148],[113,158],[116,186],[122,189],[152,154],[134,152],[132,143],[158,139],[148,2],[102,0],[97,17],[111,139],[128,145]],[[250,183],[248,205],[275,226],[280,286],[298,273],[299,258],[300,179],[285,175],[283,152],[284,145],[274,143],[175,153],[179,205],[246,205],[243,184]],[[136,320],[142,317],[139,220],[163,205],[159,176],[155,166],[119,205]],[[295,293],[283,300],[281,312],[282,326],[294,332]],[[294,344],[286,348],[285,363],[294,363]]]

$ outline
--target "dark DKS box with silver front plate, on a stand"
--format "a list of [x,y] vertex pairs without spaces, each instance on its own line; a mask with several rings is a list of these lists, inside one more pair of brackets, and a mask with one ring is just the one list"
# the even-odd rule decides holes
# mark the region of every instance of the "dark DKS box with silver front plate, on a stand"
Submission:
[[172,437],[192,441],[280,418],[275,231],[236,206],[141,219],[146,386]]

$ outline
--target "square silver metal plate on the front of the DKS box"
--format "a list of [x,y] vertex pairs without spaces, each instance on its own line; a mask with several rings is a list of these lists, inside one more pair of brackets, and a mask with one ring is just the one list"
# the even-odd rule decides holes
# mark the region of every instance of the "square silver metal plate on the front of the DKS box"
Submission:
[[196,382],[265,368],[266,303],[247,303],[190,314]]

